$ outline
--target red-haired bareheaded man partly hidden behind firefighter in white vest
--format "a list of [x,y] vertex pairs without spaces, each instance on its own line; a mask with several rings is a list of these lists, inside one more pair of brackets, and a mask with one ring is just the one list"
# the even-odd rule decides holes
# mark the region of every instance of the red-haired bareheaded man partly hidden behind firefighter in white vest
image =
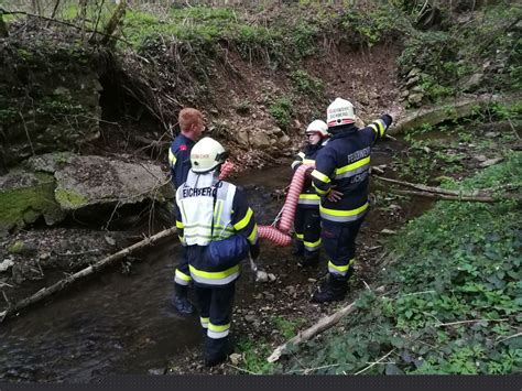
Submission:
[[[178,115],[178,122],[181,133],[172,142],[168,150],[168,164],[171,166],[174,189],[177,189],[185,183],[188,170],[191,170],[191,150],[205,131],[205,121],[199,110],[193,108],[182,109]],[[193,304],[187,297],[191,280],[188,261],[185,250],[182,249],[181,260],[174,275],[174,298],[172,304],[183,315],[191,315],[195,312]]]

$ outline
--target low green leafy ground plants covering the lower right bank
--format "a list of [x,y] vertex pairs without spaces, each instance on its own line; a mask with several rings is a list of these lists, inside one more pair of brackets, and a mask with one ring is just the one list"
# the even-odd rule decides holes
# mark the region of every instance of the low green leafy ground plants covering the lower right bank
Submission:
[[[522,153],[453,187],[520,183]],[[358,312],[308,343],[284,371],[504,374],[522,367],[522,211],[516,202],[439,202],[387,247],[394,262],[363,292]],[[400,240],[399,240],[400,238]]]

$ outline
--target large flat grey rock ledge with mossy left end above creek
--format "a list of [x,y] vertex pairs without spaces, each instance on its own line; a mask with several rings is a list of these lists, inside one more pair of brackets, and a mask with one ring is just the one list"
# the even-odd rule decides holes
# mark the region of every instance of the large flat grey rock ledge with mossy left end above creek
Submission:
[[0,176],[0,203],[7,206],[0,213],[0,233],[40,217],[50,226],[67,216],[108,225],[118,208],[166,204],[174,194],[162,169],[122,156],[54,153],[31,158],[25,169]]

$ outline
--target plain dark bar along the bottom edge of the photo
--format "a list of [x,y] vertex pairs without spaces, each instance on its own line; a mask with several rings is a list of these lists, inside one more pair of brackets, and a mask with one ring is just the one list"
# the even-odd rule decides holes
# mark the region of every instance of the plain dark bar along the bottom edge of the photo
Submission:
[[115,376],[91,383],[0,383],[0,391],[522,391],[522,376]]

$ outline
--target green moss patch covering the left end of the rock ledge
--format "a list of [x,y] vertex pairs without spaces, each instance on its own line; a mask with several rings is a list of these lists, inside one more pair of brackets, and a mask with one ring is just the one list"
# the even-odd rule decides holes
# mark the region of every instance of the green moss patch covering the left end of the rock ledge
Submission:
[[40,216],[52,213],[59,207],[54,200],[54,178],[40,174],[40,183],[23,188],[0,193],[0,227],[10,229],[36,220]]

